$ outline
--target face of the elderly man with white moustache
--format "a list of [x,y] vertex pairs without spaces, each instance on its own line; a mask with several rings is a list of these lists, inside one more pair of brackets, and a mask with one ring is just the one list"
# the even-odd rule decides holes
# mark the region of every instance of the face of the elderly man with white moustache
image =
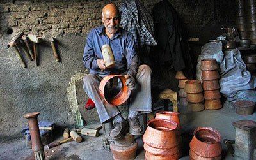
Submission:
[[115,34],[119,29],[120,20],[116,11],[105,11],[102,15],[102,22],[111,34]]

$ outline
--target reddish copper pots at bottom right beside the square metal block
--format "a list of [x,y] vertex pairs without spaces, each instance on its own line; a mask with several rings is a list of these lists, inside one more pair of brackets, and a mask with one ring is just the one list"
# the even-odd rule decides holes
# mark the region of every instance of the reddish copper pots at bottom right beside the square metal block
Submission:
[[198,127],[189,143],[189,156],[196,159],[221,159],[221,135],[211,127]]

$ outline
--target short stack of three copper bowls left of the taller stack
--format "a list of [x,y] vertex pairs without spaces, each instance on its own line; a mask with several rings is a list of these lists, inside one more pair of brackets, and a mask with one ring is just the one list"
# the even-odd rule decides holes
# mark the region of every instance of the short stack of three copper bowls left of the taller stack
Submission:
[[188,110],[199,112],[204,110],[204,96],[200,80],[188,80],[185,82],[184,92],[187,93]]

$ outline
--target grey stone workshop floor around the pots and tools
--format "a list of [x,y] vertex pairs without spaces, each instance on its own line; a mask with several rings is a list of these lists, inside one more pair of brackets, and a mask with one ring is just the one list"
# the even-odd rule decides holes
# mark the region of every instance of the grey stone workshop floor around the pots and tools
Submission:
[[[172,107],[170,107],[172,110]],[[184,142],[184,156],[180,159],[189,159],[189,142],[193,136],[193,131],[197,127],[213,127],[221,133],[222,140],[222,157],[223,159],[234,159],[227,151],[227,147],[223,145],[223,139],[234,140],[235,130],[232,122],[237,120],[256,120],[256,113],[253,115],[237,115],[234,109],[221,108],[220,110],[204,110],[202,112],[188,112],[186,106],[179,106],[180,122],[182,126],[182,138]],[[86,127],[98,127],[100,124],[92,124]],[[100,130],[100,136],[92,138],[83,136],[83,142],[76,143],[74,141],[66,142],[58,147],[47,149],[44,147],[46,159],[113,159],[112,153],[103,149],[102,138],[103,131]],[[145,159],[145,150],[141,137],[138,137],[138,150],[136,159]],[[63,140],[58,136],[56,141]],[[17,138],[12,141],[0,143],[0,159],[34,159],[33,151],[26,147],[24,138]]]

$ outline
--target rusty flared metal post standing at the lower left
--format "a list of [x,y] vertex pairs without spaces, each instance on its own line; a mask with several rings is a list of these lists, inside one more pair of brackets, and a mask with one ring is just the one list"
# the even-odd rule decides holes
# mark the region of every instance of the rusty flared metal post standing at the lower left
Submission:
[[40,131],[38,127],[37,117],[39,112],[27,113],[23,115],[28,119],[28,126],[32,141],[32,150],[34,152],[35,160],[44,160],[44,146],[41,141]]

